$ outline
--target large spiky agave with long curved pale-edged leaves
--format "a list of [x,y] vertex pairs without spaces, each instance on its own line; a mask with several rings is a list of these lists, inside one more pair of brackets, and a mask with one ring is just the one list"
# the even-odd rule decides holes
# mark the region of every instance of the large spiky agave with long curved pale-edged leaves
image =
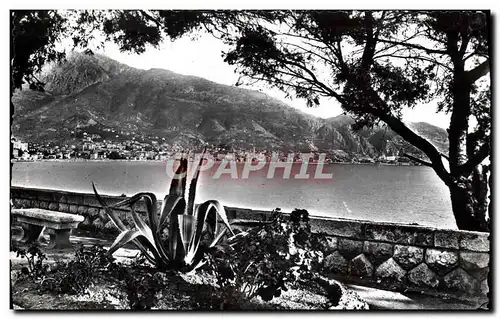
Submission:
[[[180,165],[160,212],[157,211],[156,196],[148,192],[141,192],[114,205],[107,205],[92,183],[97,200],[120,231],[108,253],[112,254],[124,245],[132,243],[157,268],[187,272],[204,263],[205,252],[217,245],[227,230],[231,233],[230,238],[238,238],[231,230],[224,206],[218,201],[209,200],[195,207],[196,185],[202,163],[203,156],[191,180],[186,203],[184,196],[188,161],[184,157],[180,159]],[[146,204],[148,224],[135,211],[135,204],[141,199]],[[124,206],[130,207],[134,228],[126,227],[113,210]],[[220,217],[223,227],[219,227],[217,216]],[[208,244],[202,242],[202,238],[207,239]]]

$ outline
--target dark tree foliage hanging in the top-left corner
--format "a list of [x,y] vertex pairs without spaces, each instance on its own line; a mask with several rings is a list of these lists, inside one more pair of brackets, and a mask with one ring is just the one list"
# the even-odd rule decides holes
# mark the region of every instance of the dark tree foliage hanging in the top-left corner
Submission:
[[[74,47],[86,49],[107,13],[99,10],[11,10],[11,97],[24,84],[32,90],[43,91],[45,83],[37,75],[46,64],[64,60],[66,52],[64,46],[59,45],[61,41],[71,39]],[[86,53],[92,54],[88,50]]]

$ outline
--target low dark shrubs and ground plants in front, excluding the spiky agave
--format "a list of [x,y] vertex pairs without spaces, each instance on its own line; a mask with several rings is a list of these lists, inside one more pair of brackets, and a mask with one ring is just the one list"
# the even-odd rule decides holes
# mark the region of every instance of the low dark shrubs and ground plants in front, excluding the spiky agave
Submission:
[[196,271],[159,270],[143,254],[114,258],[101,246],[80,247],[63,261],[38,244],[13,247],[26,260],[11,271],[12,296],[28,309],[356,309],[366,304],[319,275],[307,212],[286,220],[276,210],[232,248],[224,240]]

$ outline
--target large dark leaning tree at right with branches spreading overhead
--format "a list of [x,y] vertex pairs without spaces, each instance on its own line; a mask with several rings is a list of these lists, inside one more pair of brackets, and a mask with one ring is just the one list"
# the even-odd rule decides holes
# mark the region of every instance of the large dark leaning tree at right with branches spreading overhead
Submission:
[[[458,228],[489,230],[490,169],[481,165],[491,154],[488,12],[119,10],[81,16],[80,28],[99,30],[121,50],[138,53],[204,30],[230,45],[223,57],[237,67],[238,82],[266,82],[309,106],[335,99],[355,118],[355,129],[385,123],[427,159],[409,157],[432,167],[448,186]],[[401,120],[403,108],[429,101],[451,115],[448,154]]]

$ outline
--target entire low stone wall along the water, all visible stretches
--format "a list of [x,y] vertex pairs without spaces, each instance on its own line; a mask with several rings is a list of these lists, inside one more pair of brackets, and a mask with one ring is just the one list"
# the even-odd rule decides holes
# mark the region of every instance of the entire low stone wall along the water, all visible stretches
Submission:
[[[124,199],[103,198],[109,204]],[[82,230],[109,237],[117,234],[94,194],[11,187],[11,200],[16,208],[79,214],[85,217],[79,226]],[[270,216],[269,211],[226,210],[230,220],[266,220]],[[138,203],[136,211],[144,213],[144,203]],[[125,225],[133,225],[125,209],[118,214]],[[489,233],[319,217],[311,219],[311,227],[323,235],[323,268],[334,276],[398,291],[462,296],[488,291]]]

